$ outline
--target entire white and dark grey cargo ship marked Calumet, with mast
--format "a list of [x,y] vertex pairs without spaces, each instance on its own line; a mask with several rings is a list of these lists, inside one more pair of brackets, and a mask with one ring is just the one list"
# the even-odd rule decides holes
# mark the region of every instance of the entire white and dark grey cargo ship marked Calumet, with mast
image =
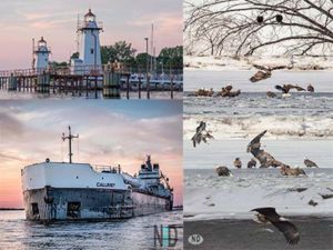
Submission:
[[92,167],[73,163],[69,141],[69,162],[44,162],[21,170],[27,220],[108,220],[132,218],[163,211],[173,207],[173,189],[158,163],[147,161],[138,174],[131,176],[121,167]]

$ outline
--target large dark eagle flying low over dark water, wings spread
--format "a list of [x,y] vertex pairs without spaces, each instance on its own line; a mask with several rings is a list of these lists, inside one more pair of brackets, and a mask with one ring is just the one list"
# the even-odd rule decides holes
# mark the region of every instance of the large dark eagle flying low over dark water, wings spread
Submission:
[[300,241],[300,233],[296,226],[276,213],[275,208],[256,208],[251,211],[258,212],[256,219],[261,223],[272,223],[275,228],[278,228],[279,231],[283,233],[287,243],[296,244]]

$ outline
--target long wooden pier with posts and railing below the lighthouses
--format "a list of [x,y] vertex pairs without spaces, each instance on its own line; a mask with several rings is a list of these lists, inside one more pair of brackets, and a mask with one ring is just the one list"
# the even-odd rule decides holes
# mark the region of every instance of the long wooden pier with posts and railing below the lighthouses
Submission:
[[49,69],[24,69],[0,71],[0,90],[33,92],[39,94],[71,94],[72,97],[99,97],[120,99],[121,92],[130,99],[130,92],[138,98],[150,99],[151,92],[162,91],[174,98],[182,91],[182,70],[144,72],[145,69],[117,68],[112,64],[84,66]]

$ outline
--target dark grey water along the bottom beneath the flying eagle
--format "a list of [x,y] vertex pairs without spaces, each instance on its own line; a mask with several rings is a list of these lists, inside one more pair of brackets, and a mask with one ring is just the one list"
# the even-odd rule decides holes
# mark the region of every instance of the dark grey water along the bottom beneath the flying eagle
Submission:
[[[186,250],[326,250],[333,249],[333,218],[289,218],[299,229],[301,240],[289,246],[273,226],[252,220],[208,220],[184,222]],[[270,230],[265,230],[270,229]],[[271,231],[273,230],[273,232]],[[189,243],[189,237],[200,234],[203,242]]]

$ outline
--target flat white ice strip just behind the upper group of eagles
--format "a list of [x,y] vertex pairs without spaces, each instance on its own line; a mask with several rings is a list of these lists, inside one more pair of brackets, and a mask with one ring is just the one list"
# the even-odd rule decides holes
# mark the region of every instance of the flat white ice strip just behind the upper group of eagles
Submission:
[[333,71],[273,71],[272,77],[255,83],[249,79],[256,70],[244,71],[212,71],[185,70],[184,91],[199,88],[220,90],[226,84],[243,92],[274,91],[275,84],[293,83],[303,88],[311,83],[316,92],[333,92]]

